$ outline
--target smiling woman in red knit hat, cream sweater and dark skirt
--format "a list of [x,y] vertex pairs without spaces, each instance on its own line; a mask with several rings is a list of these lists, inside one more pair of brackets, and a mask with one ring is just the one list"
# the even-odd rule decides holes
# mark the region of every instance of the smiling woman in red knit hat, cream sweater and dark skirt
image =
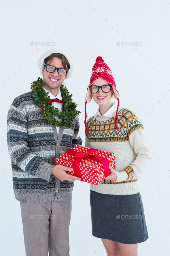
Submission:
[[[111,102],[111,97],[118,100]],[[137,179],[152,156],[143,125],[129,109],[119,107],[119,93],[109,67],[97,57],[85,99],[99,105],[86,122],[86,147],[116,154],[116,170],[99,185],[91,184],[92,235],[101,238],[108,256],[137,256],[148,239]]]

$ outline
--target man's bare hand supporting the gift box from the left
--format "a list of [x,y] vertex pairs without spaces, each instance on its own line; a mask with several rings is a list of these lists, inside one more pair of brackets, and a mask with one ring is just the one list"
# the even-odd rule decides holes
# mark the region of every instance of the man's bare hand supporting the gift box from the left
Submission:
[[61,181],[81,181],[81,178],[68,174],[66,171],[72,172],[74,169],[63,165],[55,165],[52,169],[52,175]]

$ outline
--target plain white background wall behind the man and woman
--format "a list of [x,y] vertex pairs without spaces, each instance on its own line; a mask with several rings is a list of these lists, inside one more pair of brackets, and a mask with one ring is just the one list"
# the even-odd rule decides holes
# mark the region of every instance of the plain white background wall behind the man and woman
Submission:
[[[139,244],[138,251],[140,256],[170,255],[169,1],[3,0],[0,6],[1,255],[25,254],[20,203],[14,198],[7,151],[7,111],[15,97],[30,91],[31,82],[40,76],[37,59],[54,47],[68,53],[74,64],[66,82],[82,112],[83,145],[84,98],[97,56],[112,70],[120,106],[133,110],[143,124],[154,161],[139,179],[149,239]],[[136,41],[142,45],[131,44]],[[55,46],[46,45],[50,42]],[[122,46],[124,42],[129,45]],[[88,117],[96,110],[94,102],[87,104]],[[91,235],[89,184],[74,184],[70,255],[106,255],[101,240]]]

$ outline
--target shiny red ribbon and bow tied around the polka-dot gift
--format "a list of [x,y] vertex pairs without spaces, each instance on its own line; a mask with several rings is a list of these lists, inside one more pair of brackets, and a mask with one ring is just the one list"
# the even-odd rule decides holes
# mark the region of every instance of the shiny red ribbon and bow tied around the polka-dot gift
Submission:
[[97,151],[97,149],[95,149],[95,148],[91,148],[86,153],[84,153],[84,152],[77,152],[77,151],[72,150],[72,149],[67,151],[67,154],[73,155],[75,158],[78,158],[78,159],[76,159],[72,163],[75,176],[82,178],[82,174],[80,172],[79,163],[82,161],[83,158],[101,162],[103,164],[103,168],[104,168],[104,172],[105,172],[105,177],[109,176],[109,174],[110,174],[109,160],[107,158],[102,157],[102,156],[90,155],[90,154],[92,154],[95,151]]

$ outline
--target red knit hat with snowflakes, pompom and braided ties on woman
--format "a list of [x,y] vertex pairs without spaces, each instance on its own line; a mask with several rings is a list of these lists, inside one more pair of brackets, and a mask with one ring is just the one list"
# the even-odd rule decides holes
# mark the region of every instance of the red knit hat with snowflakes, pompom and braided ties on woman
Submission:
[[[97,57],[96,63],[92,67],[92,74],[91,74],[91,77],[90,77],[89,86],[92,83],[94,83],[95,80],[97,80],[97,79],[103,79],[103,80],[105,80],[106,82],[108,82],[109,84],[112,85],[112,88],[113,88],[113,91],[114,91],[114,98],[116,100],[118,100],[118,106],[117,106],[116,117],[115,117],[115,127],[116,127],[116,130],[118,131],[116,121],[117,121],[118,107],[119,107],[119,93],[116,90],[116,84],[115,84],[115,81],[114,81],[114,78],[113,78],[113,75],[112,75],[112,71],[107,66],[107,64],[104,63],[104,60],[102,59],[102,57]],[[87,126],[86,126],[86,119],[87,119],[86,104],[89,103],[92,99],[92,93],[90,92],[89,86],[87,87],[87,94],[86,94],[86,98],[85,98],[85,120],[84,120],[84,124],[85,124],[85,127],[86,127],[87,134],[90,135],[90,133],[87,130]]]

